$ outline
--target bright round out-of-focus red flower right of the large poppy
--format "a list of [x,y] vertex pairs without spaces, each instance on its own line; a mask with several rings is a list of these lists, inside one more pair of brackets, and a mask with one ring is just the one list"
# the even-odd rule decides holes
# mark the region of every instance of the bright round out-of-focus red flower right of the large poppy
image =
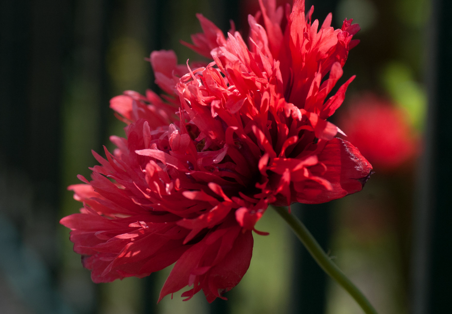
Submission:
[[377,171],[397,169],[420,152],[418,134],[406,113],[375,95],[356,98],[338,121],[347,140],[366,155]]

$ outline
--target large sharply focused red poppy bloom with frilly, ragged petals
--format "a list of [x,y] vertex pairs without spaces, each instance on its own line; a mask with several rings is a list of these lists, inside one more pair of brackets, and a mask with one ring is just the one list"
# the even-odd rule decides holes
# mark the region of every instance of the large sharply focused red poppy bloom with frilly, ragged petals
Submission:
[[[159,97],[126,91],[111,108],[128,125],[92,180],[70,186],[83,202],[71,228],[75,252],[94,282],[145,277],[175,262],[161,300],[185,286],[207,301],[239,283],[250,265],[252,231],[269,204],[321,203],[362,189],[371,165],[326,121],[353,77],[328,98],[357,41],[345,20],[319,29],[269,0],[249,16],[248,44],[198,14],[203,33],[184,43],[209,64],[177,65],[172,51],[152,52]],[[282,25],[283,14],[287,23]],[[327,79],[325,75],[329,73]]]

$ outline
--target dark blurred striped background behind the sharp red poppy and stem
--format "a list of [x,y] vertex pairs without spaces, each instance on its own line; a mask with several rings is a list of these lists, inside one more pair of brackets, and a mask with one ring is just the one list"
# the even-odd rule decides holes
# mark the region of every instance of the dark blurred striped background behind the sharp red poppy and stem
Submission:
[[[452,4],[306,2],[320,23],[332,12],[335,28],[344,18],[361,25],[339,84],[357,78],[333,122],[376,173],[360,193],[292,210],[379,313],[447,313]],[[170,269],[93,284],[58,224],[80,207],[66,187],[89,176],[90,150],[124,135],[108,100],[158,90],[144,58],[173,49],[179,63],[199,60],[179,43],[200,31],[195,13],[225,32],[233,19],[246,36],[258,9],[257,0],[0,1],[1,314],[362,313],[270,209],[257,226],[270,235],[254,236],[249,271],[229,301],[211,305],[202,293],[156,305]]]

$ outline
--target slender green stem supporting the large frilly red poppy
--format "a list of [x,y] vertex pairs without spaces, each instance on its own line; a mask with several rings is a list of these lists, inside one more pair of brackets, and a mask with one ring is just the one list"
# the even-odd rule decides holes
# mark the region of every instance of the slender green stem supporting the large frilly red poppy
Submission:
[[361,306],[364,313],[366,314],[377,314],[377,311],[373,308],[370,302],[366,299],[363,293],[353,284],[350,279],[348,279],[344,273],[339,269],[339,267],[331,261],[330,257],[326,255],[320,245],[312,236],[311,232],[307,230],[306,226],[297,219],[292,214],[289,214],[285,207],[273,206],[275,211],[287,221],[287,223],[292,227],[293,232],[297,234],[298,239],[306,247],[311,256],[315,259],[317,264],[340,286],[342,286],[345,291],[347,291],[353,299]]

